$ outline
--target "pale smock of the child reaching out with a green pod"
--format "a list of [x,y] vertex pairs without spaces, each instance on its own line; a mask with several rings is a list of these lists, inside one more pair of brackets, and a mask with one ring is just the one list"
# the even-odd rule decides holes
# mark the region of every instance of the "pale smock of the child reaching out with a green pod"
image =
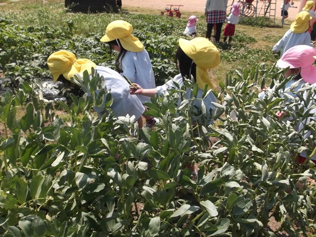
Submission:
[[[163,85],[157,86],[158,95],[162,95],[162,96],[167,95],[169,94],[169,90],[177,89],[178,87],[176,86],[174,82],[176,82],[180,86],[180,88],[183,86],[183,78],[181,74],[178,74],[173,79],[168,80]],[[188,91],[185,94],[185,99],[191,99],[192,93],[193,93],[193,89],[192,88],[188,89]],[[212,104],[212,102],[217,102],[216,97],[214,96],[213,92],[209,91],[207,96],[204,99],[200,100],[200,98],[202,98],[202,94],[203,94],[203,90],[198,88],[197,98],[199,99],[192,98],[194,100],[193,107],[197,107],[199,110],[201,110],[201,101],[203,101],[206,108],[206,118],[204,118],[204,120],[206,120],[207,125],[213,124],[214,120],[211,117],[215,114],[216,108]],[[180,106],[180,104],[181,104],[181,100],[178,101],[178,106]],[[200,123],[200,121],[197,121],[197,122]]]

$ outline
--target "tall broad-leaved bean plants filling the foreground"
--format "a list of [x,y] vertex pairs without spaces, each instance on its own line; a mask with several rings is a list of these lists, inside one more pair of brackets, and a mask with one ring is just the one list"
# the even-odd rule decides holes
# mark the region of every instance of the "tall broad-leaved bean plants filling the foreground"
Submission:
[[[314,98],[316,91],[305,87],[295,103],[280,98],[282,73],[263,64],[227,77],[218,127],[193,122],[201,116],[191,106],[195,93],[177,106],[194,88],[187,80],[146,104],[160,120],[154,130],[138,129],[135,118],[115,119],[94,72],[73,80],[91,96],[71,96],[72,107],[61,102],[70,121],[42,103],[38,84],[20,83],[0,97],[0,235],[307,236],[315,228],[316,185],[307,183],[315,169],[293,160],[313,148],[294,126],[309,115],[299,106],[309,104],[303,93]],[[267,79],[276,90],[258,99]],[[16,107],[27,100],[17,118]],[[91,108],[104,100],[108,113],[97,118]],[[274,114],[285,108],[292,120],[278,121]],[[313,137],[315,125],[308,128]],[[195,179],[192,162],[199,164]],[[268,229],[272,216],[281,223],[275,233]]]

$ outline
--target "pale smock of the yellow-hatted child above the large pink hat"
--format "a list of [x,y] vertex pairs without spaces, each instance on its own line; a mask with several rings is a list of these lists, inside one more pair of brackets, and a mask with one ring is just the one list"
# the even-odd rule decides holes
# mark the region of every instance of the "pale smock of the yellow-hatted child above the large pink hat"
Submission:
[[295,46],[295,45],[309,45],[313,47],[313,44],[311,43],[311,35],[308,31],[296,34],[293,33],[290,29],[284,34],[284,36],[279,40],[275,46],[273,46],[272,51],[275,53],[278,51],[281,51],[280,56],[283,55],[286,50],[289,48]]

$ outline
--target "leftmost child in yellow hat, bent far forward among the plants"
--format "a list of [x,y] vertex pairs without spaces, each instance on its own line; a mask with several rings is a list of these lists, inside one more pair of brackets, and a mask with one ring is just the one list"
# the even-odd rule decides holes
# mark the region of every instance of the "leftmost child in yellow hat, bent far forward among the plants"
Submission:
[[[70,81],[75,75],[82,76],[84,71],[91,74],[91,68],[94,68],[96,72],[106,80],[107,90],[110,91],[113,98],[111,110],[114,115],[116,117],[126,115],[135,116],[139,127],[142,127],[143,122],[141,116],[145,108],[137,96],[129,93],[128,82],[118,72],[107,67],[97,66],[88,59],[77,59],[75,54],[67,50],[52,53],[47,59],[47,65],[54,82],[65,79]],[[86,88],[82,88],[82,90],[88,93]],[[106,112],[104,105],[93,107],[93,109],[98,113],[99,117],[102,117]]]

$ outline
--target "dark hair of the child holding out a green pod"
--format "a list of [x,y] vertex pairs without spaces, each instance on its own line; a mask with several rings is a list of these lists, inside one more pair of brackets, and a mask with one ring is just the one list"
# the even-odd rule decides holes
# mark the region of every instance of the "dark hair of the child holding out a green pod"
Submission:
[[178,47],[176,51],[175,61],[183,78],[189,78],[192,75],[194,80],[197,81],[197,65],[188,55],[185,54],[181,47]]

